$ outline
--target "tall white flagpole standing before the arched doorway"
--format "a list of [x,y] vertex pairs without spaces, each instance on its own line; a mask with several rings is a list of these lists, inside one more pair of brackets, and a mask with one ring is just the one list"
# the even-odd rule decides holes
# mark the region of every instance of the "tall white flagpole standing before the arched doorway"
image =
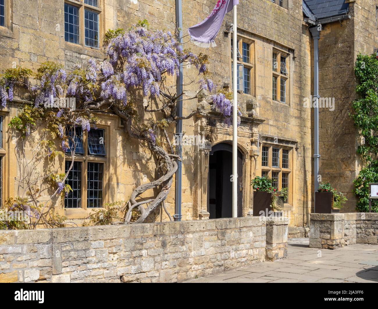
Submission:
[[237,217],[237,24],[234,5],[234,21],[232,24],[232,217]]

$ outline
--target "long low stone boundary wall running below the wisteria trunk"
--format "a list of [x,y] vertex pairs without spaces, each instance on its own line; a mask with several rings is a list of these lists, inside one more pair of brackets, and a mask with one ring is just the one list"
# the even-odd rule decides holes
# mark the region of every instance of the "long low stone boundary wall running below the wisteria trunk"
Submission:
[[177,282],[287,255],[287,220],[0,231],[0,282]]

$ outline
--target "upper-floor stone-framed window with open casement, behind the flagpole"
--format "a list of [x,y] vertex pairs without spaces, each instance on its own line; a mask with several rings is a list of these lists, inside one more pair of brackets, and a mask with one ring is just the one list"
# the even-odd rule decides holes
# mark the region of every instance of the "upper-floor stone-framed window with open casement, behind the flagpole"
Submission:
[[[247,41],[245,38],[239,38],[239,40],[237,40],[237,90],[245,94],[252,94],[251,77],[253,65],[251,63],[251,49],[251,42]],[[233,54],[233,40],[231,39],[231,84],[234,76]]]

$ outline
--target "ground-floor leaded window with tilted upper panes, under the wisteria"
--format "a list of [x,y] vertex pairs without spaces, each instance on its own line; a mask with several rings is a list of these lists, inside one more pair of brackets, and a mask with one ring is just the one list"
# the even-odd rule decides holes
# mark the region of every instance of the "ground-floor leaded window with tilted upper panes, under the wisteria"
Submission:
[[105,130],[91,128],[86,136],[79,126],[67,127],[66,130],[69,137],[66,153],[71,154],[71,148],[75,147],[75,160],[70,171],[72,159],[65,161],[66,184],[71,186],[72,191],[65,197],[64,206],[84,208],[84,199],[87,208],[102,208],[105,162],[101,158],[106,156]]

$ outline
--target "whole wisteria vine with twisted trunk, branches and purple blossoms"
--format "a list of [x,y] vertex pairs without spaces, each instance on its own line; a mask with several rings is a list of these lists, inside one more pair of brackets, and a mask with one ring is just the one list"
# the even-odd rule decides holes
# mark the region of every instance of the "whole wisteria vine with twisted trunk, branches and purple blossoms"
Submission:
[[[175,85],[167,83],[167,76],[178,76],[180,66],[185,63],[193,65],[198,71],[199,91],[212,94],[211,100],[215,109],[224,116],[229,126],[232,120],[232,104],[229,95],[215,93],[216,86],[207,71],[208,56],[195,55],[184,49],[177,41],[175,34],[152,29],[144,20],[132,26],[129,31],[118,29],[106,35],[105,55],[103,60],[88,59],[86,65],[77,64],[68,72],[58,63],[43,63],[35,74],[20,67],[8,69],[0,76],[1,105],[6,107],[13,100],[14,87],[28,89],[27,111],[21,110],[11,121],[11,127],[21,132],[22,136],[31,135],[42,121],[51,134],[52,140],[63,152],[71,152],[74,158],[75,137],[72,134],[76,126],[89,132],[96,127],[96,112],[105,111],[121,118],[127,134],[144,141],[146,146],[162,161],[162,176],[148,184],[143,184],[133,191],[125,214],[128,223],[129,211],[138,209],[140,217],[137,222],[146,220],[167,197],[172,184],[172,176],[177,169],[172,152],[167,127],[177,121],[176,103],[184,94],[172,93]],[[31,85],[31,77],[34,84]],[[199,93],[198,91],[198,93]],[[192,97],[197,98],[198,93]],[[138,102],[147,98],[147,105]],[[67,100],[69,98],[69,100]],[[71,103],[74,102],[74,106]],[[156,103],[157,102],[157,103]],[[158,104],[158,108],[152,108]],[[141,111],[159,112],[156,117],[140,119]],[[187,119],[195,113],[194,111]],[[240,111],[238,111],[238,125]],[[152,120],[161,117],[161,120]],[[71,132],[70,134],[68,132]],[[73,147],[70,147],[73,145]],[[168,145],[169,147],[166,147]],[[49,143],[46,157],[54,157],[54,145]],[[165,150],[170,148],[170,152]],[[180,158],[178,158],[180,159]],[[55,194],[68,194],[70,188],[64,185],[67,175],[57,177]],[[55,178],[54,178],[55,179]],[[137,201],[139,195],[148,189],[158,188],[158,194],[148,203]],[[147,208],[143,208],[147,204]]]

